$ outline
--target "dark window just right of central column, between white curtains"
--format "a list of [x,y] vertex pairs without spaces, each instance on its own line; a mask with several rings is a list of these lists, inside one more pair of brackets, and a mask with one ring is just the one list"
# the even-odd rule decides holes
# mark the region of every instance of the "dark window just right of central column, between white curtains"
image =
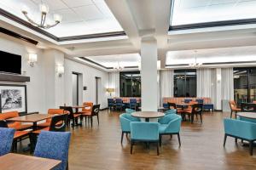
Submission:
[[174,97],[196,96],[196,70],[174,71]]

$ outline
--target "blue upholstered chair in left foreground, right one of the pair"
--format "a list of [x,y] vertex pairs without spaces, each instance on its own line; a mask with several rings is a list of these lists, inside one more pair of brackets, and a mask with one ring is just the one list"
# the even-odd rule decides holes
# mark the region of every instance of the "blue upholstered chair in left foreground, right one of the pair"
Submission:
[[61,164],[55,170],[66,170],[69,141],[69,132],[42,131],[38,136],[34,156],[60,160]]

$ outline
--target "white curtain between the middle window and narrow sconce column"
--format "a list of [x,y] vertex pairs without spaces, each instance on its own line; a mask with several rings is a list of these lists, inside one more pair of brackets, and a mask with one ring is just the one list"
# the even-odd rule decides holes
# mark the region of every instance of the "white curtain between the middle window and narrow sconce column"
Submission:
[[196,75],[196,96],[211,98],[216,105],[216,69],[198,69]]

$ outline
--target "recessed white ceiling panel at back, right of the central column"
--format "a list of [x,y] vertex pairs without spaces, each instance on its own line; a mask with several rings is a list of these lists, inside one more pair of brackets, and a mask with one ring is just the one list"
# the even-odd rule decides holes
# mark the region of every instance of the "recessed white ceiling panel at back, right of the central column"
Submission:
[[256,46],[236,48],[208,48],[183,51],[169,51],[166,65],[180,65],[195,62],[195,54],[199,63],[256,61]]

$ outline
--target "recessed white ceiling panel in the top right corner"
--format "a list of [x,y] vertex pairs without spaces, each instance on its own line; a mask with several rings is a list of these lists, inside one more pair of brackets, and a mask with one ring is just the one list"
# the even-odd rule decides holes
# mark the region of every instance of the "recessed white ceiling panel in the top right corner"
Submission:
[[256,0],[175,0],[172,26],[256,18]]

